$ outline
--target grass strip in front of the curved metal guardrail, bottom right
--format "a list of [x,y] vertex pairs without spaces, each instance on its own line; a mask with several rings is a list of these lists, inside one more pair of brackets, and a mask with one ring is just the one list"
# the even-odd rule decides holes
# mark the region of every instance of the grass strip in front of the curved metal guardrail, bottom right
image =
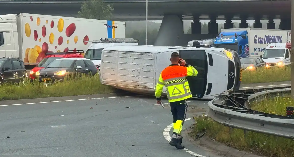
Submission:
[[282,137],[265,135],[249,131],[244,137],[244,131],[233,129],[229,132],[229,127],[223,126],[209,117],[194,118],[196,124],[193,126],[194,133],[205,131],[206,136],[216,139],[220,143],[227,146],[237,148],[239,150],[250,151],[261,156],[271,157],[293,157],[294,156],[294,140]]

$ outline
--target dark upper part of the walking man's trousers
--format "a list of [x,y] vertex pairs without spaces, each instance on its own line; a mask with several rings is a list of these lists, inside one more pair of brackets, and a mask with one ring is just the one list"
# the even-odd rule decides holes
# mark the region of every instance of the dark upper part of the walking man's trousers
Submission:
[[186,100],[171,102],[170,105],[171,114],[173,115],[173,123],[176,123],[177,120],[184,121],[188,107]]

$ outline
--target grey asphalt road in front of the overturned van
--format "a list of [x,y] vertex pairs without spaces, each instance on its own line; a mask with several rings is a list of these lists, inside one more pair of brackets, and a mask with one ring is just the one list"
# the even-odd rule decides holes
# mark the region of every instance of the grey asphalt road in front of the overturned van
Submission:
[[[172,123],[170,108],[155,103],[153,97],[133,96],[0,106],[0,156],[191,156],[169,146],[163,130]],[[188,102],[187,118],[207,113],[206,103]],[[184,127],[192,123],[186,121]],[[183,145],[206,157],[220,157],[188,139]]]

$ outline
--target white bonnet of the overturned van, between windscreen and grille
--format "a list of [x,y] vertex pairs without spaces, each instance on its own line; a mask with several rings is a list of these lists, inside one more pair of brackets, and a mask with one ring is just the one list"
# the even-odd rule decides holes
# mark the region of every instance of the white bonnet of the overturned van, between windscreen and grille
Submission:
[[[209,65],[208,54],[212,55],[213,66]],[[206,50],[207,55],[207,84],[212,83],[211,93],[204,95],[203,98],[213,98],[222,93],[228,86],[228,61],[220,51]],[[206,86],[206,91],[207,91]],[[206,93],[205,93],[206,94]]]

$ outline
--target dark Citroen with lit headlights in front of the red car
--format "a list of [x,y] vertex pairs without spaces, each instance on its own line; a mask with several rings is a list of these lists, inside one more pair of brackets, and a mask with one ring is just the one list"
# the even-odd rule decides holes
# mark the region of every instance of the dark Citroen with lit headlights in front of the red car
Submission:
[[95,75],[98,71],[95,64],[90,59],[85,58],[61,58],[52,61],[44,69],[36,72],[40,82],[54,83],[63,81],[67,74],[77,76],[77,74]]

